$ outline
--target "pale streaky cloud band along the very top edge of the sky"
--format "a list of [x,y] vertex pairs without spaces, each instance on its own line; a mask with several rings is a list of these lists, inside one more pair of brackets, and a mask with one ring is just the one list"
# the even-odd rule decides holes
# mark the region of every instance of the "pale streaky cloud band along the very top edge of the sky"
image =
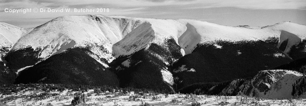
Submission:
[[243,9],[305,9],[305,0],[4,0],[0,10],[4,8],[131,8],[152,6],[189,6],[186,9],[237,7]]

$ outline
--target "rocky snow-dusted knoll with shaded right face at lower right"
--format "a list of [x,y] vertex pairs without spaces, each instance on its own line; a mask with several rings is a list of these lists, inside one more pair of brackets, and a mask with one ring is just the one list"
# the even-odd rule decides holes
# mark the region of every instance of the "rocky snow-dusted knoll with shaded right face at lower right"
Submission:
[[293,83],[303,75],[290,70],[260,71],[250,82],[240,86],[241,93],[266,98],[290,98]]

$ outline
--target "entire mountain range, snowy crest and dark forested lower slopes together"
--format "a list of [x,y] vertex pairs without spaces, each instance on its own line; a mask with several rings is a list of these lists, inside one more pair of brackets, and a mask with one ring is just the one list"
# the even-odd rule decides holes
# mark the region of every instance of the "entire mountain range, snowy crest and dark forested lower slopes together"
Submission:
[[203,85],[220,88],[221,82],[251,79],[306,57],[306,26],[290,22],[231,27],[190,19],[82,15],[27,29],[0,25],[1,83],[15,79],[184,92]]

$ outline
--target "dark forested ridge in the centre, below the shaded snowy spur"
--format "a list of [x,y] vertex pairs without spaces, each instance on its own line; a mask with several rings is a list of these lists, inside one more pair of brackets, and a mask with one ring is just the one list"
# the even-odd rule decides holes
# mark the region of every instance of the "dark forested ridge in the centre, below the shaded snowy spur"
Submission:
[[[172,85],[162,79],[161,70],[166,70],[164,61],[171,62],[182,57],[174,38],[165,39],[162,45],[151,43],[132,55],[120,56],[111,62],[121,82],[121,87],[146,88],[171,92]],[[129,62],[129,67],[121,64]]]

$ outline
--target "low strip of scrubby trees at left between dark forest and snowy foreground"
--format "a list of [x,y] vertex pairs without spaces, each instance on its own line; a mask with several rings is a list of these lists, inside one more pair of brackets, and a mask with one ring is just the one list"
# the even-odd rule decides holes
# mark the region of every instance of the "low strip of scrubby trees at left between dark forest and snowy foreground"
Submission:
[[26,92],[26,91],[33,91],[33,90],[41,90],[43,92],[50,92],[50,91],[60,91],[63,92],[64,90],[71,90],[76,92],[88,92],[88,90],[94,90],[94,93],[106,93],[108,92],[135,92],[137,94],[140,93],[153,93],[153,94],[173,94],[174,92],[162,92],[159,90],[151,90],[146,88],[132,88],[132,87],[125,87],[121,88],[118,86],[92,86],[92,85],[78,85],[78,84],[45,84],[45,83],[29,83],[29,84],[9,84],[9,85],[2,85],[0,86],[0,94],[9,95],[12,93],[18,92]]

